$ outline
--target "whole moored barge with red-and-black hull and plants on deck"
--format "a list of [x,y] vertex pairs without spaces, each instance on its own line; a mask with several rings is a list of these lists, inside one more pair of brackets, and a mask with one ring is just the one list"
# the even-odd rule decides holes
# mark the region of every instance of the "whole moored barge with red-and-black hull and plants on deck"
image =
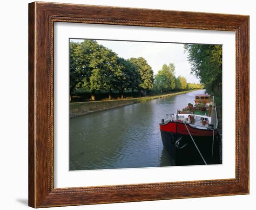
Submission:
[[211,95],[195,95],[193,104],[162,119],[160,131],[173,165],[222,164],[222,139]]

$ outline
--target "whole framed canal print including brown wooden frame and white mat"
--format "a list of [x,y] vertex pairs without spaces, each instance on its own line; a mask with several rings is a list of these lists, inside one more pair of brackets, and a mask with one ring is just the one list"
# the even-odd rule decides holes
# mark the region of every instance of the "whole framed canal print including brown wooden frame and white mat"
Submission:
[[29,206],[248,193],[249,16],[29,4]]

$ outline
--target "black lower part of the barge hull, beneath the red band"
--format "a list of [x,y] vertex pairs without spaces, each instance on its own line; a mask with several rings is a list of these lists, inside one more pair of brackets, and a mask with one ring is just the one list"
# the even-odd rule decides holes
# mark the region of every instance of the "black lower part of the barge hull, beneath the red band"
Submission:
[[214,137],[214,142],[212,136],[193,136],[195,144],[189,135],[161,130],[161,137],[164,149],[168,152],[168,155],[174,165],[204,164],[195,144],[207,164],[222,164],[220,157],[221,138],[218,133]]

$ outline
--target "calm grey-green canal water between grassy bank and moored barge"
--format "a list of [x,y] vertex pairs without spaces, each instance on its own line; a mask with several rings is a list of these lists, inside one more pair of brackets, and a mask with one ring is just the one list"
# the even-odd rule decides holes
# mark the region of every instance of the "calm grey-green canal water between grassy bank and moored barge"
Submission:
[[69,170],[171,166],[159,123],[205,90],[70,119]]

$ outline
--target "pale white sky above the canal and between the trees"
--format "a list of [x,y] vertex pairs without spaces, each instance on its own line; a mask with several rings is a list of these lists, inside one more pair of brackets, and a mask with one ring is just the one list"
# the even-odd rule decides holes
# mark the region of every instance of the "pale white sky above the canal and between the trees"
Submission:
[[[81,42],[83,39],[71,41]],[[174,63],[176,77],[181,75],[188,83],[199,83],[199,79],[190,74],[188,54],[184,52],[183,44],[97,39],[96,41],[124,59],[143,57],[152,67],[154,75],[162,69],[163,64]]]

